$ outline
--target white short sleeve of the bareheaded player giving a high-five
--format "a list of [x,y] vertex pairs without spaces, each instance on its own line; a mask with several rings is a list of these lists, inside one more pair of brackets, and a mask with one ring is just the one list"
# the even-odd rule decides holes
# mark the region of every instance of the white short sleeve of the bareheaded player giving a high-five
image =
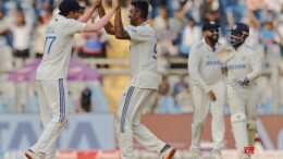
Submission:
[[127,26],[125,30],[128,33],[132,41],[146,41],[152,38],[150,28],[146,26]]

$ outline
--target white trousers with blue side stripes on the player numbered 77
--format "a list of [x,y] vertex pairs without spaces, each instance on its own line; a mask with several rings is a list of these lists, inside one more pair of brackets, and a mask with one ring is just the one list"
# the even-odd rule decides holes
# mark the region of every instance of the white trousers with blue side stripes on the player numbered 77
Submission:
[[44,132],[30,149],[35,152],[46,154],[46,159],[54,159],[56,139],[69,118],[66,82],[63,78],[58,81],[37,80],[36,87]]

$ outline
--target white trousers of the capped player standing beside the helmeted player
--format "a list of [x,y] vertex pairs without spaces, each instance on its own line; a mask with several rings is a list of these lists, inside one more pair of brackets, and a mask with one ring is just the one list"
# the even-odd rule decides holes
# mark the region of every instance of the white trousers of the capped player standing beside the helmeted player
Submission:
[[211,132],[213,149],[220,149],[224,139],[225,123],[223,113],[226,96],[225,85],[224,82],[221,81],[209,86],[217,97],[214,102],[209,99],[207,93],[196,86],[193,87],[194,118],[192,124],[192,148],[194,149],[200,148],[200,142],[209,108],[212,114]]

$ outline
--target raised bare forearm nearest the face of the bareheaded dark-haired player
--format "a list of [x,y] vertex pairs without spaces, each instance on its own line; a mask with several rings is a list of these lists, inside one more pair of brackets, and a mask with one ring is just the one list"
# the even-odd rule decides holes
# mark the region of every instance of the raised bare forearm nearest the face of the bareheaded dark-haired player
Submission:
[[122,23],[121,7],[118,8],[118,11],[116,11],[116,14],[115,14],[114,30],[115,30],[115,37],[118,39],[131,39],[131,36],[124,29],[124,26],[123,26],[123,23]]

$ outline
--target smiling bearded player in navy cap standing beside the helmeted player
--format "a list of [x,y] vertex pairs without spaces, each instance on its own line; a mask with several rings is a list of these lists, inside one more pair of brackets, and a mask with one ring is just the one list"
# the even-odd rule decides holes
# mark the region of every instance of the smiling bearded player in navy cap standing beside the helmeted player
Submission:
[[225,85],[217,54],[220,48],[219,25],[213,21],[208,22],[202,26],[202,33],[205,38],[192,47],[188,58],[188,74],[194,101],[190,155],[194,158],[201,157],[200,143],[210,108],[213,139],[211,157],[221,158],[221,144],[225,132],[223,118]]

